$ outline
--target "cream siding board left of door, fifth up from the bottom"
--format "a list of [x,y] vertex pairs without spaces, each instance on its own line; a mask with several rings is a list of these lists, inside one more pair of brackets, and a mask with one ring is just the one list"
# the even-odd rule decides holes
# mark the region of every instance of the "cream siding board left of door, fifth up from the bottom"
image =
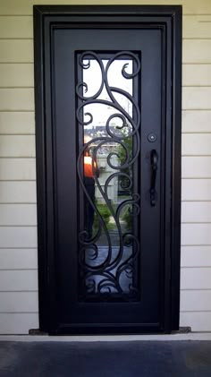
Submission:
[[37,227],[0,227],[0,247],[38,246]]

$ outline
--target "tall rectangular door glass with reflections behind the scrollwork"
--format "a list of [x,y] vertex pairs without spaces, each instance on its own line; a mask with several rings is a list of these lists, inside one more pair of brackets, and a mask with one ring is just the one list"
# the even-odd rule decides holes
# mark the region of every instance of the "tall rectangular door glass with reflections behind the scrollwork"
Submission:
[[131,52],[78,56],[81,300],[139,298],[139,71]]

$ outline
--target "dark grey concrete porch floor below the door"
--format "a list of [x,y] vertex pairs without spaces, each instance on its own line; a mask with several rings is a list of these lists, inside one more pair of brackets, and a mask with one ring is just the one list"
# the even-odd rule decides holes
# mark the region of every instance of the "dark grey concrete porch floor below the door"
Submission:
[[0,376],[210,377],[211,341],[0,341]]

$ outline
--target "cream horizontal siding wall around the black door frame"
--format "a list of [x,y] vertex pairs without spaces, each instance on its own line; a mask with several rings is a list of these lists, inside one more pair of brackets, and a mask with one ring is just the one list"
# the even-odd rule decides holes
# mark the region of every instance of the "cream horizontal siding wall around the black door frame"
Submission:
[[0,3],[0,333],[38,328],[32,4],[182,4],[181,326],[211,330],[211,1]]

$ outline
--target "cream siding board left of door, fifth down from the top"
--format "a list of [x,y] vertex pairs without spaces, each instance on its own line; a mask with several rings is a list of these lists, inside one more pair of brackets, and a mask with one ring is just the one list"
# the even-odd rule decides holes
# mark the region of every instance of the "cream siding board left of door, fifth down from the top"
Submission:
[[0,89],[0,110],[34,110],[33,89]]

